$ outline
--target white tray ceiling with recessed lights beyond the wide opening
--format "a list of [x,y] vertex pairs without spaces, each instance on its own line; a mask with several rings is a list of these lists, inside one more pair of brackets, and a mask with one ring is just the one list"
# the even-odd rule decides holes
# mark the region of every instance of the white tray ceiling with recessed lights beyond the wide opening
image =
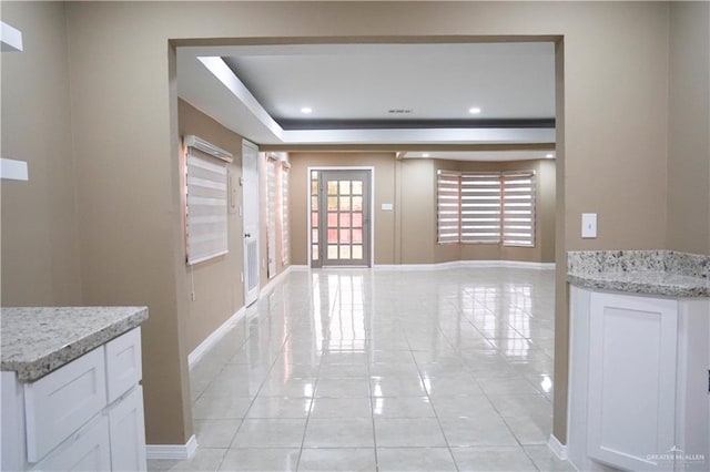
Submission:
[[262,145],[555,142],[550,42],[179,48],[178,89]]

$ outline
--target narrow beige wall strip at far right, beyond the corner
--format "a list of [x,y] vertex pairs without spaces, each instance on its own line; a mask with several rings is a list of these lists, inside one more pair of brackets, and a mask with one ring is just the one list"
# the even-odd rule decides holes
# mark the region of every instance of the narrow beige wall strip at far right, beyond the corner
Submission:
[[710,3],[670,7],[668,247],[710,254]]

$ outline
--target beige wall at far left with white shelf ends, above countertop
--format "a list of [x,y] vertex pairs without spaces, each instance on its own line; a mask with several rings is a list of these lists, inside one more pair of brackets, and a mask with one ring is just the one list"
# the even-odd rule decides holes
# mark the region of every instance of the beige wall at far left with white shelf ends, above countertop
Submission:
[[1,156],[29,181],[2,181],[3,306],[79,305],[79,223],[61,3],[2,3],[24,52],[2,52]]

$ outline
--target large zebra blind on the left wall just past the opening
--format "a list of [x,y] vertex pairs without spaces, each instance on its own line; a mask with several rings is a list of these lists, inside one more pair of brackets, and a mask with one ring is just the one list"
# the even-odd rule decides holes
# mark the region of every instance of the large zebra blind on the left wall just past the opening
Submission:
[[187,264],[229,253],[226,166],[187,147],[185,207]]

